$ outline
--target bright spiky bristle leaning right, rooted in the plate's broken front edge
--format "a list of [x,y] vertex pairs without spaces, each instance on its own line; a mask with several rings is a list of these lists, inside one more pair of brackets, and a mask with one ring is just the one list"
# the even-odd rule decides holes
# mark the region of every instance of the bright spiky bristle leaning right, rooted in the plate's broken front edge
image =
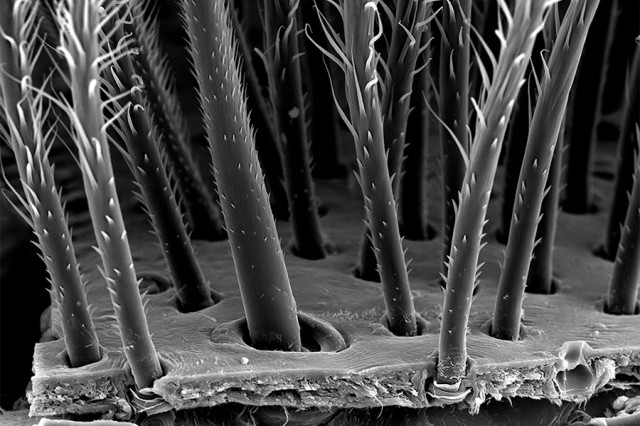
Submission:
[[509,31],[506,38],[499,31],[500,60],[494,66],[493,80],[487,84],[482,106],[474,105],[478,114],[476,133],[459,197],[442,310],[436,377],[439,384],[458,385],[465,376],[469,310],[482,266],[478,265],[478,257],[500,148],[515,98],[524,83],[534,39],[550,3],[519,1],[512,17],[506,3],[499,1]]

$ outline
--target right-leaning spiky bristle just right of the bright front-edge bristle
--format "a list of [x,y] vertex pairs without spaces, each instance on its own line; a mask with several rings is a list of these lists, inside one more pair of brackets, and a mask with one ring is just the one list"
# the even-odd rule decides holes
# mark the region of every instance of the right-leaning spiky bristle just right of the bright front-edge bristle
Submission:
[[522,299],[547,176],[569,91],[598,4],[599,0],[573,0],[558,31],[549,64],[544,68],[493,312],[491,335],[500,339],[516,340],[520,335]]

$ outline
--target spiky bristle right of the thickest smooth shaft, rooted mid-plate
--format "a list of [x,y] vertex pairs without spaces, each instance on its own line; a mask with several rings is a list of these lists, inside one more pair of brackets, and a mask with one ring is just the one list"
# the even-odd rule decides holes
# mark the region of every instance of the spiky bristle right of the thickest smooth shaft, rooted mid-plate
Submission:
[[375,32],[377,2],[344,2],[344,57],[347,100],[354,128],[359,182],[365,200],[389,329],[401,336],[417,332],[415,310],[402,248],[396,203],[384,147],[382,111],[376,72],[380,36]]

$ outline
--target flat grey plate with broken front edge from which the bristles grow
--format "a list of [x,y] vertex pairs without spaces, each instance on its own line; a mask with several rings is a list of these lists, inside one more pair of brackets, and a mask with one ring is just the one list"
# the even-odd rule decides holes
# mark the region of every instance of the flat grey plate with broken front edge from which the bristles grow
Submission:
[[[599,193],[606,193],[608,183],[597,185]],[[430,198],[437,199],[436,179],[430,180],[429,189],[434,194]],[[433,376],[430,355],[438,346],[442,303],[437,280],[440,240],[405,241],[407,258],[413,259],[410,279],[416,309],[429,326],[419,337],[392,336],[379,322],[383,314],[380,285],[356,279],[351,273],[363,227],[359,188],[354,181],[319,182],[318,195],[329,210],[322,227],[337,249],[335,254],[318,261],[297,258],[286,249],[290,239],[288,224],[279,223],[278,230],[299,309],[333,324],[348,348],[338,353],[284,353],[212,341],[212,331],[240,318],[243,310],[228,243],[197,241],[205,276],[212,288],[223,294],[222,301],[200,312],[182,314],[175,308],[172,289],[148,296],[150,329],[167,373],[156,382],[154,391],[171,405],[178,409],[227,402],[419,408],[446,402],[428,395],[428,378]],[[560,215],[555,273],[561,287],[554,295],[526,296],[524,324],[529,327],[528,337],[511,342],[486,335],[483,325],[491,318],[498,264],[504,250],[493,239],[497,207],[494,199],[489,211],[489,218],[494,220],[487,227],[489,244],[481,255],[486,264],[469,323],[472,366],[465,386],[472,392],[463,404],[476,411],[490,397],[581,400],[610,380],[616,369],[630,371],[633,364],[640,363],[640,316],[611,316],[601,309],[612,264],[594,257],[590,250],[604,229],[605,213]],[[438,214],[435,211],[431,215],[433,223],[438,223]],[[161,252],[145,219],[128,214],[127,228],[137,272],[164,271]],[[105,402],[126,405],[123,389],[130,384],[130,378],[125,374],[120,338],[108,317],[112,309],[95,267],[98,257],[90,249],[91,232],[88,227],[74,230],[81,246],[78,251],[82,268],[90,283],[88,298],[96,309],[96,326],[107,356],[94,365],[70,370],[61,356],[62,342],[39,344],[32,401],[32,412],[36,414],[60,413],[69,406],[99,411]],[[556,380],[558,371],[566,368],[559,350],[571,341],[583,341],[592,349],[583,354],[582,361],[590,371],[591,382],[573,391],[562,388]],[[97,383],[102,390],[94,392],[94,399],[78,405],[74,394],[80,390],[79,382],[91,386]],[[64,398],[60,397],[60,389],[65,389]],[[82,389],[87,391],[87,387]],[[106,400],[100,399],[101,393],[107,395]],[[122,415],[126,416],[126,410]]]

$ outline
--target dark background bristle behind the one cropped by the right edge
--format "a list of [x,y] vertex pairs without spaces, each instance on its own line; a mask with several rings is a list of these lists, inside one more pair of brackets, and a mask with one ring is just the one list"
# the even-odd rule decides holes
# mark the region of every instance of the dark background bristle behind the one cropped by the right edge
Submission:
[[607,219],[604,240],[598,254],[608,260],[615,260],[620,242],[620,230],[624,224],[629,207],[629,193],[633,188],[634,152],[638,146],[637,133],[634,126],[640,117],[640,49],[636,50],[635,58],[629,73],[630,84],[623,103],[623,115],[618,137],[618,155],[616,166],[616,180],[613,191],[613,201]]

